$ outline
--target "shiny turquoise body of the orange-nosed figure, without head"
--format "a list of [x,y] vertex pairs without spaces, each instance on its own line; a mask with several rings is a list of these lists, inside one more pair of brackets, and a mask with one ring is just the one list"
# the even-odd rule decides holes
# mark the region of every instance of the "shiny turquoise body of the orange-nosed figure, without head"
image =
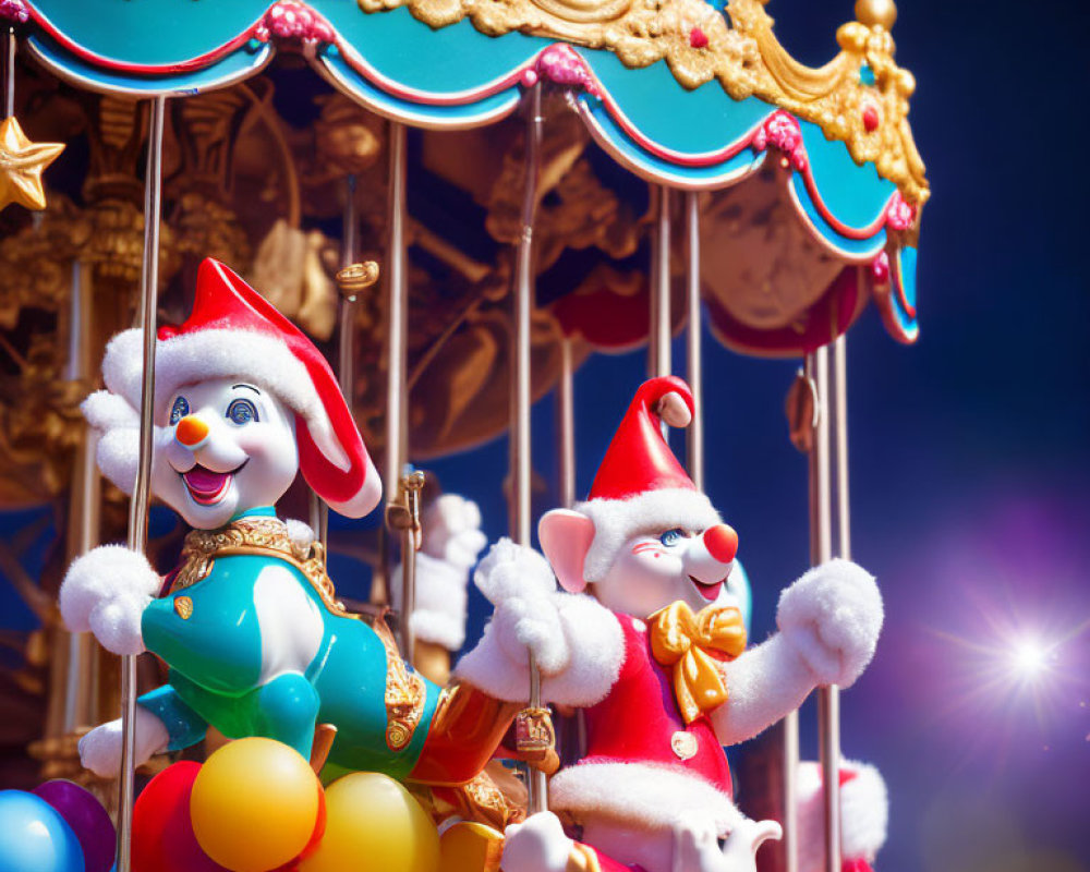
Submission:
[[[166,725],[172,750],[199,741],[211,725],[230,738],[277,739],[308,756],[315,726],[332,724],[335,766],[404,778],[420,758],[439,688],[400,658],[391,664],[375,629],[335,613],[289,560],[217,556],[205,578],[154,600],[142,631],[170,674],[138,702]],[[391,668],[405,670],[400,678],[417,690],[414,728],[403,743],[390,741]]]

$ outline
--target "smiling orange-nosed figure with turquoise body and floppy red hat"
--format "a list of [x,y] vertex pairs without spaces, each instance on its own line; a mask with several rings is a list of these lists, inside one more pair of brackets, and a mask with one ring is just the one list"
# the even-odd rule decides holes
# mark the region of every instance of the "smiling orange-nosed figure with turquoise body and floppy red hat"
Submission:
[[[182,562],[164,578],[144,555],[102,546],[72,565],[60,594],[71,630],[94,632],[117,654],[150,651],[170,667],[167,683],[137,700],[136,763],[199,741],[209,725],[307,756],[316,727],[331,724],[328,760],[342,770],[427,784],[473,778],[502,738],[506,710],[493,706],[494,729],[472,736],[449,712],[437,717],[440,688],[405,666],[382,620],[344,610],[310,530],[276,516],[300,471],[351,518],[382,495],[322,352],[213,259],[201,265],[190,317],[161,328],[155,346],[150,484],[193,528]],[[102,364],[107,389],[83,405],[101,434],[99,467],[129,493],[142,349],[140,330],[116,337]],[[472,521],[470,507],[459,507]],[[472,550],[471,525],[449,532],[447,552]],[[472,557],[461,552],[468,574]],[[462,708],[475,716],[473,705]],[[80,755],[99,775],[117,774],[120,720],[84,736]]]

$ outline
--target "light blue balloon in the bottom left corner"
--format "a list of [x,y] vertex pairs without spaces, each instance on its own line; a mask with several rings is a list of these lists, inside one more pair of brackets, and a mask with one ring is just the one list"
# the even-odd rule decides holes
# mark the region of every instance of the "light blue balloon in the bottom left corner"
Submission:
[[83,848],[44,799],[0,790],[0,872],[85,872]]

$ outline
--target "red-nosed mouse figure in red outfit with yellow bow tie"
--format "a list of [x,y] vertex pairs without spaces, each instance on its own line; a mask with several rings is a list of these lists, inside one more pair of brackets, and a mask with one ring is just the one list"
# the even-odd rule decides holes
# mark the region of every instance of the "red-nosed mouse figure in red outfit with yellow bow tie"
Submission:
[[737,536],[662,436],[661,415],[685,426],[692,409],[681,379],[644,383],[590,498],[542,518],[548,561],[505,540],[477,570],[495,611],[456,675],[525,700],[532,652],[543,698],[582,707],[586,724],[585,756],[549,784],[549,808],[574,828],[553,811],[508,827],[505,872],[753,872],[779,827],[737,810],[723,747],[820,685],[851,685],[874,653],[881,595],[843,560],[785,590],[779,632],[746,650],[726,583]]

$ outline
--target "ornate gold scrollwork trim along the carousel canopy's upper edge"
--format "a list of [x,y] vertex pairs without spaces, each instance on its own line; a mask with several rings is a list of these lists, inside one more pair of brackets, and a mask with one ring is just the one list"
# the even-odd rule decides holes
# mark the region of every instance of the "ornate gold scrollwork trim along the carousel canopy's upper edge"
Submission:
[[665,60],[687,88],[718,80],[736,100],[759,97],[818,124],[872,161],[910,203],[929,193],[908,124],[916,80],[894,60],[893,0],[858,0],[857,21],[836,34],[840,52],[824,66],[799,63],[773,34],[766,0],[358,0],[364,12],[405,5],[432,27],[462,19],[489,36],[511,32],[614,51],[627,66]]

